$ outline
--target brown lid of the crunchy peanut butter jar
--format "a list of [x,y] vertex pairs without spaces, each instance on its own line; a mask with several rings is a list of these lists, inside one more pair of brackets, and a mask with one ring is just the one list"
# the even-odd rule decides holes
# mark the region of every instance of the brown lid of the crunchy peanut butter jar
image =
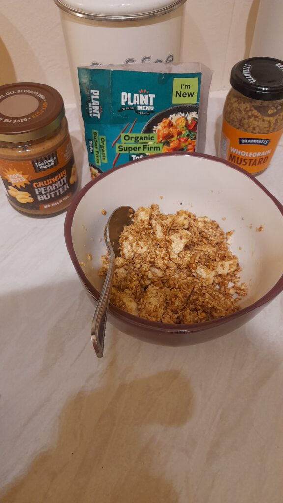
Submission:
[[63,99],[55,89],[38,82],[15,82],[0,87],[0,141],[24,143],[43,138],[60,125]]

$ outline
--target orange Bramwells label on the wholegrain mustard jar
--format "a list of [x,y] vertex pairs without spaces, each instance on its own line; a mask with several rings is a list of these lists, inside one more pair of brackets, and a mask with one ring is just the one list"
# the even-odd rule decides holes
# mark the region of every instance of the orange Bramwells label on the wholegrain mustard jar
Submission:
[[251,174],[266,169],[283,129],[273,133],[255,134],[222,124],[220,156]]

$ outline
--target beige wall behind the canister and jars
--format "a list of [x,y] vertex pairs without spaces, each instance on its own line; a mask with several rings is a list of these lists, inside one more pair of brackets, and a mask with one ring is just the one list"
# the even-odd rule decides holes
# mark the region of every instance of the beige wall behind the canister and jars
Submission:
[[[213,69],[212,91],[229,89],[233,64],[249,55],[258,4],[259,0],[187,0],[182,60],[201,61]],[[66,105],[73,103],[53,1],[1,0],[0,11],[0,85],[45,82],[62,94]]]

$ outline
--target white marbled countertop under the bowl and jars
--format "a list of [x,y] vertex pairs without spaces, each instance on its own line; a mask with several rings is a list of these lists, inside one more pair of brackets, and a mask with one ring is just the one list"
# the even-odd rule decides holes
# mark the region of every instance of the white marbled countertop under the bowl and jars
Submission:
[[[215,154],[223,99],[209,101]],[[67,111],[82,184],[76,110]],[[283,201],[283,147],[260,176]],[[107,325],[64,242],[65,214],[33,219],[1,201],[2,503],[282,503],[283,297],[216,341],[148,345]]]

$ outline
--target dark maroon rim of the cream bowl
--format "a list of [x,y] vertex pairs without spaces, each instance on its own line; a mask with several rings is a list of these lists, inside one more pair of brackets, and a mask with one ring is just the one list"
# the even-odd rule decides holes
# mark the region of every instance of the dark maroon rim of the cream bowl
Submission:
[[[188,156],[193,156],[193,157],[203,157],[205,159],[213,160],[213,161],[218,161],[226,164],[227,166],[231,167],[233,170],[239,171],[242,175],[250,178],[256,185],[258,185],[265,194],[273,201],[275,206],[278,208],[280,211],[281,215],[283,216],[283,206],[279,203],[279,201],[252,175],[244,171],[242,168],[236,166],[235,164],[232,164],[232,162],[221,159],[220,157],[214,156],[214,155],[208,155],[208,154],[202,154],[202,153],[196,153],[196,152],[191,152],[191,153],[184,153],[184,152],[167,152],[167,153],[160,153],[160,154],[155,154],[151,155],[148,157],[148,159],[153,159],[156,157],[163,157],[164,155],[188,155]],[[66,217],[65,217],[65,224],[64,224],[64,235],[65,235],[65,242],[68,250],[68,254],[70,256],[70,259],[73,262],[73,265],[84,283],[84,285],[87,287],[88,291],[91,293],[91,295],[98,300],[100,293],[94,286],[90,283],[86,275],[84,274],[79,261],[76,257],[75,254],[75,249],[73,246],[72,242],[72,223],[73,223],[73,217],[75,214],[75,211],[77,209],[77,206],[81,199],[84,197],[86,192],[89,191],[89,189],[95,185],[96,183],[99,182],[104,177],[107,177],[108,175],[111,175],[111,173],[123,169],[124,166],[128,166],[132,162],[140,162],[144,161],[145,157],[136,159],[135,161],[129,161],[125,162],[124,164],[120,164],[119,166],[103,173],[102,175],[99,175],[95,180],[91,180],[85,187],[83,187],[78,194],[74,197],[71,205],[68,208]],[[114,304],[110,302],[109,304],[109,311],[111,314],[116,315],[119,317],[119,319],[122,319],[126,321],[127,323],[139,327],[144,327],[144,328],[150,328],[151,330],[157,330],[157,331],[164,331],[166,333],[189,333],[189,332],[198,332],[202,330],[207,330],[208,328],[212,327],[217,327],[218,325],[222,325],[224,323],[228,323],[229,321],[232,321],[233,319],[240,318],[244,314],[247,314],[258,307],[261,307],[262,305],[266,304],[267,302],[270,302],[274,297],[276,297],[281,291],[283,290],[283,274],[281,274],[279,280],[275,285],[265,294],[263,297],[258,299],[256,302],[253,302],[249,306],[240,309],[239,311],[229,314],[228,316],[223,316],[222,318],[216,318],[210,321],[203,321],[201,323],[189,323],[189,324],[174,324],[174,323],[162,323],[160,321],[150,321],[145,318],[139,318],[137,316],[134,316],[133,314],[129,314],[126,311],[123,311],[119,307],[116,307]]]

